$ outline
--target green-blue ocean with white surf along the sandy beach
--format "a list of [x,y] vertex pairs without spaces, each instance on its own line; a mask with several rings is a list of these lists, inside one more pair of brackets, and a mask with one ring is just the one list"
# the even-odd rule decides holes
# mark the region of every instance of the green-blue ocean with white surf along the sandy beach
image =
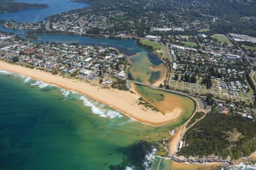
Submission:
[[[0,169],[109,169],[127,156],[122,150],[163,130],[76,92],[4,70],[0,101]],[[145,155],[145,168],[150,161]]]

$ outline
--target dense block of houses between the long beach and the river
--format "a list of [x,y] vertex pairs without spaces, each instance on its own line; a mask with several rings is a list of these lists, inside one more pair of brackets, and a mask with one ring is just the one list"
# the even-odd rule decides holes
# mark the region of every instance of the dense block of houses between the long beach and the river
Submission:
[[[53,74],[94,80],[104,74],[119,75],[126,69],[125,56],[114,48],[77,44],[36,44],[14,35],[0,35],[1,59]],[[107,84],[112,83],[109,81]]]

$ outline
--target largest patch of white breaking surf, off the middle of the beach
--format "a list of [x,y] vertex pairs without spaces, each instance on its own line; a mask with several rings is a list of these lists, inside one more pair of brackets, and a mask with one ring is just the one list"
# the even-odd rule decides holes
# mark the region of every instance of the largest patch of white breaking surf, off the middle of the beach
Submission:
[[110,109],[102,109],[103,106],[100,104],[100,107],[97,107],[98,102],[95,101],[94,103],[90,102],[86,97],[81,96],[80,99],[84,101],[84,105],[86,107],[90,107],[93,114],[97,114],[100,117],[105,117],[105,118],[115,118],[115,117],[123,117],[119,112],[117,111],[112,111]]

